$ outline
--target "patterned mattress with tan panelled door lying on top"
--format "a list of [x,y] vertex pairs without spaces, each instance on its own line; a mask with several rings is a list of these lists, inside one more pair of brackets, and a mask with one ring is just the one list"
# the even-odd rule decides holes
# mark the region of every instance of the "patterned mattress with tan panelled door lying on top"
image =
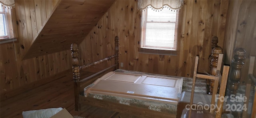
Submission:
[[[192,78],[118,69],[84,88],[84,96],[176,114],[180,94],[191,90],[187,87],[190,83]],[[199,79],[196,84],[200,85],[197,92],[206,93],[206,80]]]

